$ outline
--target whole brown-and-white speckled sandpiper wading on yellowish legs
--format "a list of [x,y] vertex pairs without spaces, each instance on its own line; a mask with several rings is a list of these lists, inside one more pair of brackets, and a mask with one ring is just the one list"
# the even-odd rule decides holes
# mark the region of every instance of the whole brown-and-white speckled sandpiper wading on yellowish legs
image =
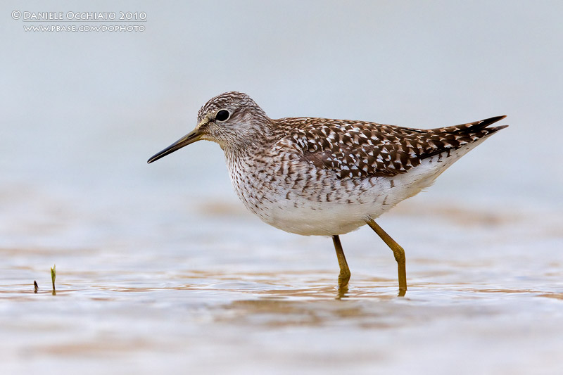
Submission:
[[489,127],[505,117],[435,129],[318,117],[274,120],[248,95],[232,91],[205,103],[196,129],[148,163],[201,139],[216,142],[248,210],[284,231],[332,237],[339,291],[347,291],[350,279],[339,236],[367,224],[393,250],[399,295],[405,295],[405,250],[374,219],[507,127]]

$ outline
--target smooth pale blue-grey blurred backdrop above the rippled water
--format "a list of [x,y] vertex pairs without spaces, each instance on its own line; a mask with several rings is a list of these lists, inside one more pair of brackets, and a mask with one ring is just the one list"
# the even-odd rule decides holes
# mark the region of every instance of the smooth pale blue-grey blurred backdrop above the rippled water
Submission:
[[[148,22],[137,33],[24,32],[16,8],[130,9]],[[270,117],[436,127],[508,115],[511,127],[429,198],[560,208],[562,11],[559,1],[4,2],[2,186],[234,200],[214,144],[144,162],[194,127],[208,98],[237,90]]]

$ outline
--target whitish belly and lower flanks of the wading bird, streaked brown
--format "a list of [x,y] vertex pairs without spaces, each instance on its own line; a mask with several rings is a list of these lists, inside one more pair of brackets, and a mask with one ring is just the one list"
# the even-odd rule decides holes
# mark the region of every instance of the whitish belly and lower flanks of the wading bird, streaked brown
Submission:
[[[430,186],[441,172],[479,144],[425,159],[407,173],[393,177],[336,179],[315,171],[301,183],[265,180],[249,173],[231,174],[236,193],[248,210],[267,224],[305,236],[346,234],[379,217],[400,201]],[[246,176],[243,178],[242,176]]]

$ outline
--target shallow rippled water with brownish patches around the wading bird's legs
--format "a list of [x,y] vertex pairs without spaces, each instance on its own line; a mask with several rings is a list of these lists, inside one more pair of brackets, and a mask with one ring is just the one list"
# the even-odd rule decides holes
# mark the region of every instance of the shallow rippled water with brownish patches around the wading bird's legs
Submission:
[[[452,205],[417,215],[428,211],[425,204],[400,205],[380,220],[407,251],[404,298],[397,296],[391,251],[371,230],[342,237],[353,275],[348,293],[339,295],[330,239],[270,230],[228,202],[194,204],[199,227],[184,229],[183,238],[163,225],[132,247],[115,245],[120,241],[111,235],[92,248],[4,247],[3,368],[561,371],[560,217],[536,212],[523,219]],[[225,222],[231,224],[222,227]],[[212,236],[217,226],[222,234]],[[56,295],[49,275],[54,262]]]

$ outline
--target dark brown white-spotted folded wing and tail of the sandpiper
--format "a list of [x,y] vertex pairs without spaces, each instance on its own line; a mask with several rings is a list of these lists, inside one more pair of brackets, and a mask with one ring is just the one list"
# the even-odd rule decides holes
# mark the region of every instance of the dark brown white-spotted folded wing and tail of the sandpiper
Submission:
[[374,122],[291,117],[280,119],[284,143],[298,150],[300,160],[333,170],[341,179],[395,176],[424,158],[451,151],[503,127],[488,125],[504,116],[453,127],[414,129]]

